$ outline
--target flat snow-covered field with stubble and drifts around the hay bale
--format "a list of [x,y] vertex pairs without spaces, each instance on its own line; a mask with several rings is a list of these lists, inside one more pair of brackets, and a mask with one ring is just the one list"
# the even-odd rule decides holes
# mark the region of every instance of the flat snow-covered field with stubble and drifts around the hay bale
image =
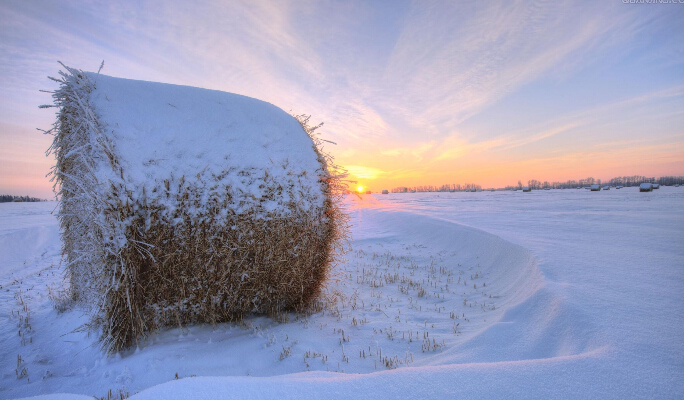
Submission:
[[306,316],[170,328],[105,357],[55,203],[0,204],[0,398],[681,398],[684,188],[349,196]]

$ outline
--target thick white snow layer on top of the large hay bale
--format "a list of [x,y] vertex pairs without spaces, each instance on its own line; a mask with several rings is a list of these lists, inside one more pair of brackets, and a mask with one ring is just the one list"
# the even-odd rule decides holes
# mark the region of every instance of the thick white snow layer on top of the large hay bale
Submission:
[[[321,165],[311,139],[291,115],[270,103],[216,90],[86,75],[95,88],[90,104],[112,140],[134,200],[144,192],[148,201],[154,193],[163,201],[163,192],[154,190],[170,177],[204,186],[200,180],[211,176],[220,177],[212,185],[265,198],[262,207],[273,211],[311,199],[291,199],[288,192],[267,199],[265,174],[283,184],[297,177],[298,187],[307,189],[303,192],[320,186]],[[244,171],[258,171],[258,176],[246,177]],[[119,174],[111,168],[102,172],[112,181]],[[323,199],[319,194],[316,206]],[[168,205],[172,212],[175,204]],[[242,211],[240,204],[235,207]]]

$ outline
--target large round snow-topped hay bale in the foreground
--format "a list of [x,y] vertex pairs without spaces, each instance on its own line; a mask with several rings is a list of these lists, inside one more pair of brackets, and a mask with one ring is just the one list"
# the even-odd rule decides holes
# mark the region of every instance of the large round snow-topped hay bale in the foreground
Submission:
[[314,301],[346,232],[318,126],[232,93],[65,69],[52,175],[71,293],[104,349]]

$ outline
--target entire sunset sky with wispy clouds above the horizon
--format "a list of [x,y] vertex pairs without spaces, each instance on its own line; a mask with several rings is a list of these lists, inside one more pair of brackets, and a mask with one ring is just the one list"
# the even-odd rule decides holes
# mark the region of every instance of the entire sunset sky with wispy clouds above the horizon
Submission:
[[374,190],[684,174],[684,2],[0,3],[0,192],[50,196],[57,61],[324,121]]

